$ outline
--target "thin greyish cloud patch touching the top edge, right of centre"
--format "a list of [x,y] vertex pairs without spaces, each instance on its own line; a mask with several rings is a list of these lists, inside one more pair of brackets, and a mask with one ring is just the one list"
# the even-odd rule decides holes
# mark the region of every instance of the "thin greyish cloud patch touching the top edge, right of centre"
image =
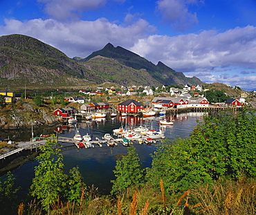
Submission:
[[199,22],[196,13],[188,11],[188,5],[198,3],[197,0],[159,0],[156,3],[163,21],[174,30],[185,31]]

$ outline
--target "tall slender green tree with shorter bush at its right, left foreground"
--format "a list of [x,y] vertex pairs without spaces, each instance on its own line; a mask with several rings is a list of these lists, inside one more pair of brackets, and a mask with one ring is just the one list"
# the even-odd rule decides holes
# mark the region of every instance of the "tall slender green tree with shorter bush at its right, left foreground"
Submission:
[[80,203],[80,196],[86,190],[77,167],[71,169],[70,176],[64,174],[63,156],[58,147],[60,144],[50,139],[40,147],[42,153],[37,157],[39,165],[35,167],[35,178],[30,187],[32,196],[41,200],[48,214],[58,197]]

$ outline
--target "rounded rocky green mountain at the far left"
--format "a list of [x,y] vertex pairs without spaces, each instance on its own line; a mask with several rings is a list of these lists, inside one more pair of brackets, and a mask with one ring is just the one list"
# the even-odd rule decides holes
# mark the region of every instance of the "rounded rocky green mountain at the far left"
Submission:
[[68,86],[82,82],[86,69],[57,48],[33,37],[0,37],[0,78],[15,86]]

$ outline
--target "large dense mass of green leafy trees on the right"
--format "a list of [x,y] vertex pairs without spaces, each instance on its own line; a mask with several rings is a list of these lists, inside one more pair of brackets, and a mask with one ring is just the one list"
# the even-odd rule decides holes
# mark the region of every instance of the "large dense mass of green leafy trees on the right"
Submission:
[[255,178],[255,127],[255,110],[205,115],[190,138],[158,146],[147,171],[148,183],[158,187],[162,178],[165,190],[171,193],[223,176]]

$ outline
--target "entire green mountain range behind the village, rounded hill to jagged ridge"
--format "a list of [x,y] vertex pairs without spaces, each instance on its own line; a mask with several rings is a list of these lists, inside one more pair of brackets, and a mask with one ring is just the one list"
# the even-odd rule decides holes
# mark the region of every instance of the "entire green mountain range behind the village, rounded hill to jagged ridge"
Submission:
[[107,44],[85,59],[67,57],[53,46],[25,35],[0,37],[0,89],[85,88],[111,82],[120,85],[201,84],[163,63],[152,64],[120,46]]

